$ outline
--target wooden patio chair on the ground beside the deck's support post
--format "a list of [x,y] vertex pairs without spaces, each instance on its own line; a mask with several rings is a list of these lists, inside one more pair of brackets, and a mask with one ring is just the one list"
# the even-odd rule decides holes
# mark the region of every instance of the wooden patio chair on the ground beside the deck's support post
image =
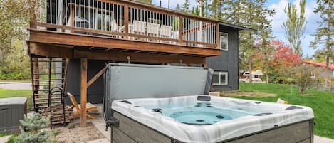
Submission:
[[[78,102],[76,102],[75,97],[71,93],[68,92],[67,95],[68,97],[70,97],[70,100],[72,102],[72,109],[75,107],[75,113],[73,114],[73,118],[76,118],[81,112],[81,106],[80,104],[78,104]],[[98,110],[98,107],[96,107],[95,105],[92,105],[90,102],[87,102],[86,110],[87,110],[86,115],[90,117],[91,119],[95,119],[95,117],[93,115],[90,115],[88,111]]]

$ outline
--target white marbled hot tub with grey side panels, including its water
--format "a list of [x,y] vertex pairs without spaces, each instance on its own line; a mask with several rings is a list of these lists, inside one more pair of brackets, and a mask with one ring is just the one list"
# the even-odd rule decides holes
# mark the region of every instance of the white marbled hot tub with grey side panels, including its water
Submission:
[[143,125],[170,142],[311,142],[313,135],[313,110],[297,105],[196,95],[115,100],[112,109],[115,118],[132,122],[119,120],[122,132]]

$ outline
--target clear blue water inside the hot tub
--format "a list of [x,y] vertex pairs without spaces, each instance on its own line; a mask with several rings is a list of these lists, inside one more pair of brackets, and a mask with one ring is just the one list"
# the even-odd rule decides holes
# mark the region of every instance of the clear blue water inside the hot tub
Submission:
[[[151,109],[157,108],[159,107],[151,107]],[[162,115],[189,125],[212,125],[223,120],[250,115],[246,112],[216,107],[210,102],[197,102],[187,107],[160,107],[160,109],[162,109]]]

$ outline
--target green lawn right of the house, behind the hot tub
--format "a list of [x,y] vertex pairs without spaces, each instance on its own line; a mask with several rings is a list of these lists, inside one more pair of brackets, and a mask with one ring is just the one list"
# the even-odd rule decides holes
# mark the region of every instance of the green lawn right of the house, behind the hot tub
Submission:
[[299,95],[298,88],[293,87],[293,94],[291,95],[291,85],[266,83],[240,83],[239,90],[274,93],[276,97],[237,98],[276,102],[279,97],[283,100],[288,100],[288,104],[311,107],[314,111],[316,123],[314,134],[334,139],[334,92],[307,90],[306,94],[310,95]]

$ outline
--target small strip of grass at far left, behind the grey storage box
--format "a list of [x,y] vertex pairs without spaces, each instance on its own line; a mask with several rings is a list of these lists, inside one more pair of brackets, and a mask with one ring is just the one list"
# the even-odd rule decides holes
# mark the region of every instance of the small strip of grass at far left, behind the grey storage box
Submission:
[[31,90],[6,90],[0,88],[0,98],[4,97],[31,97]]

